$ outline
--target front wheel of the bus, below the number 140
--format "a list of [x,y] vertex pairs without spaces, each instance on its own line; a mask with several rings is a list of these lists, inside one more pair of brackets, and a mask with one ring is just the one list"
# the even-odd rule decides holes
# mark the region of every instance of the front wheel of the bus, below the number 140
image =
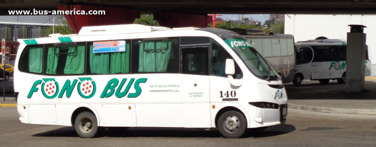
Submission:
[[244,135],[247,121],[243,114],[237,111],[227,111],[217,120],[217,128],[225,138],[236,139]]

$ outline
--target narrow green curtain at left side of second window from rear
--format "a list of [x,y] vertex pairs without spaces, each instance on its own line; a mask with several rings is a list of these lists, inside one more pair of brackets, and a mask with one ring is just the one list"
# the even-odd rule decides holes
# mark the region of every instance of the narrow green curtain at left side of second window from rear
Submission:
[[[59,47],[56,48],[56,53],[59,53]],[[59,55],[55,54],[55,47],[49,47],[47,53],[47,67],[46,74],[56,75],[58,67]]]

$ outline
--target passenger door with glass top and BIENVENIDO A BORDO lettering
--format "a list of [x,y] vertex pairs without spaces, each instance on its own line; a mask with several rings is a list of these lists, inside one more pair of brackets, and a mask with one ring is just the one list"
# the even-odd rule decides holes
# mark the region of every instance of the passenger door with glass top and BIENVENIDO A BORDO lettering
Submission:
[[182,103],[185,128],[209,128],[209,46],[181,48]]

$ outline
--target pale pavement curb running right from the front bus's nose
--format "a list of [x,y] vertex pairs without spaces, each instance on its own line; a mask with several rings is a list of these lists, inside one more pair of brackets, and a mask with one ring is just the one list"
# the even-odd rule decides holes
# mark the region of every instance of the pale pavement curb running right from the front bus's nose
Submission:
[[326,108],[326,107],[315,107],[315,106],[305,106],[296,104],[287,104],[288,108],[317,111],[325,113],[346,113],[346,114],[366,114],[366,115],[376,115],[376,110],[374,109],[342,109],[342,108]]

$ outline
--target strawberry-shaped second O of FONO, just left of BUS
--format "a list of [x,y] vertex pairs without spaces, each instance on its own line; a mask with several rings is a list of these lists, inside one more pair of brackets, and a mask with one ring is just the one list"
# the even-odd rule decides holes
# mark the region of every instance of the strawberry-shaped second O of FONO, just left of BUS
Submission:
[[91,78],[78,78],[81,82],[78,82],[77,91],[81,97],[90,99],[94,96],[96,91],[95,82]]

